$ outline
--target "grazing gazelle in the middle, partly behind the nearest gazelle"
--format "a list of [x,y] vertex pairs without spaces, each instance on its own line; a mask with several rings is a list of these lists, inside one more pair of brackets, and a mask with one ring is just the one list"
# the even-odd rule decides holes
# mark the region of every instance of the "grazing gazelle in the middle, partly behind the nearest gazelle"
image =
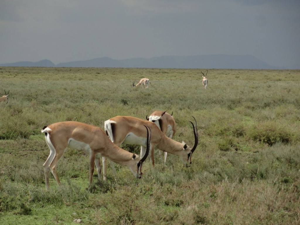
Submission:
[[[194,118],[194,117],[193,117]],[[151,156],[152,165],[154,166],[154,148],[157,147],[161,151],[165,151],[174,155],[178,155],[184,165],[189,167],[191,162],[191,157],[198,145],[198,130],[196,119],[195,125],[193,125],[195,143],[192,148],[187,146],[186,143],[177,142],[175,140],[167,137],[158,126],[147,120],[138,119],[132,116],[116,116],[104,122],[104,130],[110,140],[115,143],[117,146],[120,146],[122,143],[125,144],[136,144],[141,146],[141,153],[145,152],[146,146],[146,132],[143,129],[144,126],[149,127],[152,132],[151,142],[150,142],[150,151],[149,155]],[[103,176],[105,176],[106,171],[106,159],[103,158]],[[110,161],[111,162],[111,161]],[[113,173],[116,177],[116,170],[111,163]]]

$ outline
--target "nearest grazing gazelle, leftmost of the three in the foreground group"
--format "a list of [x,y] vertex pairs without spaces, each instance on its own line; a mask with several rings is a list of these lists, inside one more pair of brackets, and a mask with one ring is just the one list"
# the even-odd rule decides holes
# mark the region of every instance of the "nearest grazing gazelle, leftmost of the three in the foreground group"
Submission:
[[49,169],[57,184],[60,184],[56,174],[56,165],[67,147],[80,150],[89,155],[89,185],[91,185],[92,175],[94,173],[94,162],[97,168],[98,179],[100,180],[100,157],[106,157],[109,158],[110,161],[127,166],[136,178],[141,178],[142,164],[149,154],[151,141],[151,130],[149,128],[148,131],[146,127],[146,152],[143,157],[140,158],[112,143],[101,128],[85,123],[75,121],[57,122],[45,126],[41,132],[45,133],[46,143],[50,148],[50,155],[43,164],[47,190],[49,189]]

